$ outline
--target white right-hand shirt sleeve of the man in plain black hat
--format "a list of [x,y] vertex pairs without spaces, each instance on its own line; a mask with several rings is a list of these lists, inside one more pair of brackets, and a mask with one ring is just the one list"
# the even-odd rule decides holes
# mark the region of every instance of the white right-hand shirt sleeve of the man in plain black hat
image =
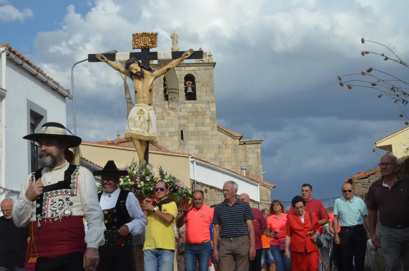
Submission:
[[125,225],[128,226],[129,233],[132,235],[137,235],[142,233],[145,230],[146,226],[146,216],[144,212],[142,212],[141,206],[139,205],[139,201],[137,200],[136,196],[129,192],[128,196],[126,197],[126,210],[128,210],[128,214],[132,221],[126,223]]

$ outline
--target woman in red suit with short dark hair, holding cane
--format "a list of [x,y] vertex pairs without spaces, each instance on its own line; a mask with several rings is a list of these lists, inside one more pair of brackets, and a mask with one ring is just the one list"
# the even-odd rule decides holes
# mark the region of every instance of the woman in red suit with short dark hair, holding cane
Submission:
[[[315,242],[319,236],[319,224],[315,214],[304,210],[306,202],[301,196],[294,196],[291,201],[297,215],[288,215],[285,223],[285,256],[290,258],[294,271],[317,271],[319,255]],[[311,219],[312,218],[312,223]],[[313,226],[314,225],[314,226]]]

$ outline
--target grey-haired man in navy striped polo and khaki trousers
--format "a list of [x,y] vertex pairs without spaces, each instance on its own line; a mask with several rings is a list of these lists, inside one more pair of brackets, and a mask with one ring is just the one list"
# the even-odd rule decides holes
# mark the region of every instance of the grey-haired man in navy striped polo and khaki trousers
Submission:
[[[250,204],[236,197],[237,190],[237,183],[225,182],[225,200],[214,207],[213,242],[217,242],[220,236],[221,271],[231,271],[233,266],[236,266],[236,271],[248,271],[249,258],[252,261],[256,257],[254,215]],[[213,258],[216,261],[219,259],[216,244],[213,244]]]

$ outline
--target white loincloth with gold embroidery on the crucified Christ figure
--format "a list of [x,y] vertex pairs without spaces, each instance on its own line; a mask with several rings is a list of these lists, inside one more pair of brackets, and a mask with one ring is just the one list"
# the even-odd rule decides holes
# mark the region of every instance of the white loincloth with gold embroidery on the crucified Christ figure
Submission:
[[128,115],[125,138],[156,140],[156,117],[153,107],[135,104]]

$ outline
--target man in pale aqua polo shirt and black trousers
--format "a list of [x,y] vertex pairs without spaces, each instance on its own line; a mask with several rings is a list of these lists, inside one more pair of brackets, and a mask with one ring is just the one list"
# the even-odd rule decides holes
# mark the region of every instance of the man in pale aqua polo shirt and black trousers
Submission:
[[344,183],[341,192],[344,197],[335,200],[333,210],[334,228],[341,225],[339,233],[334,233],[335,244],[341,244],[344,270],[364,271],[367,239],[364,223],[368,226],[368,210],[364,201],[353,195],[351,183]]

